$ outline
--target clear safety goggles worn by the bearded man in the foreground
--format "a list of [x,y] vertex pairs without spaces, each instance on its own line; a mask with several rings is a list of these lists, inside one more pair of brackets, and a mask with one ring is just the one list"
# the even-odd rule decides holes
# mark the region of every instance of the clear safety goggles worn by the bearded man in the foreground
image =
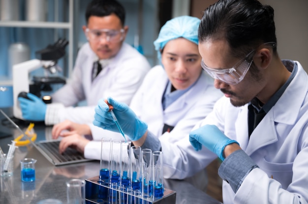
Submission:
[[[265,47],[262,47],[262,48],[275,48],[276,47],[275,42],[264,43],[263,45],[265,45]],[[257,49],[250,51],[243,59],[241,59],[232,68],[229,68],[229,69],[219,70],[219,69],[209,68],[208,66],[204,64],[203,59],[201,60],[201,66],[213,78],[219,79],[227,84],[238,84],[246,76],[246,73],[248,72],[251,66],[251,63],[253,61],[252,57],[255,54],[256,50]]]

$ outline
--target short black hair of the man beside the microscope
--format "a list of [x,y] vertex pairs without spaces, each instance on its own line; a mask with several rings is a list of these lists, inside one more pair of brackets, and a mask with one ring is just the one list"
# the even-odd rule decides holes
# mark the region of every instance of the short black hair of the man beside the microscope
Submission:
[[124,7],[116,0],[92,0],[86,10],[86,22],[91,16],[109,16],[115,14],[119,17],[122,26],[125,22],[125,9]]

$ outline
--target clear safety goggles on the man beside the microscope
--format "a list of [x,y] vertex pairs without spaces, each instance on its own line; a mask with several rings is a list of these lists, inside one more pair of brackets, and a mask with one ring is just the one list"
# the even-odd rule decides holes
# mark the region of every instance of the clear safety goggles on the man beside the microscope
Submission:
[[107,42],[117,43],[123,40],[124,29],[121,30],[110,30],[110,29],[86,29],[86,36],[89,41],[99,42],[103,38]]

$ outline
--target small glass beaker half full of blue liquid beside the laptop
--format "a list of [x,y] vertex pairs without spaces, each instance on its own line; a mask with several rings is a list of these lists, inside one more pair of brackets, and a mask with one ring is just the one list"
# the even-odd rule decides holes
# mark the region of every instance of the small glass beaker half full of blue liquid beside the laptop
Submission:
[[35,180],[35,163],[36,159],[24,158],[20,161],[21,168],[21,180],[22,181],[34,181]]

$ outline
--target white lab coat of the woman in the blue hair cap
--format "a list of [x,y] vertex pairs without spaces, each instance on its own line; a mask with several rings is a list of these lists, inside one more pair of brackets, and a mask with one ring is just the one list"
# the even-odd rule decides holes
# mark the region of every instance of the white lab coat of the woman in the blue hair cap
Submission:
[[[174,143],[185,137],[198,121],[212,111],[222,93],[214,87],[213,78],[203,71],[190,90],[163,110],[161,99],[167,82],[168,77],[161,66],[152,68],[133,97],[130,107],[142,121],[148,124],[148,129],[160,140]],[[175,128],[171,132],[162,134],[164,124]],[[102,137],[123,140],[120,133],[104,130],[91,124],[89,126],[93,141],[89,142],[85,148],[84,154],[87,158],[100,159],[100,142],[97,141],[100,141]],[[169,147],[165,148],[169,149]],[[162,148],[163,152],[165,148]],[[164,158],[167,158],[168,154],[165,155]]]

